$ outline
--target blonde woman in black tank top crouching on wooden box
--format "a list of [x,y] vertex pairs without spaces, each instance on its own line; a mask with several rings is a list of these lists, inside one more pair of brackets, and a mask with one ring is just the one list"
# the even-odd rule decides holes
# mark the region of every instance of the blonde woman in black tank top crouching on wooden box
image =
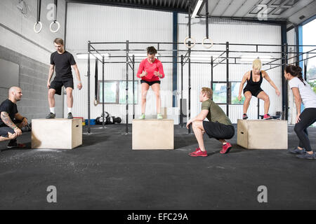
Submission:
[[262,66],[261,60],[255,59],[254,62],[252,63],[252,70],[247,71],[244,74],[244,77],[242,78],[242,83],[240,83],[240,86],[239,86],[238,99],[239,101],[241,101],[242,100],[242,87],[244,87],[244,83],[246,83],[247,81],[247,85],[246,87],[244,87],[244,97],[246,98],[244,100],[244,114],[242,116],[242,119],[244,120],[248,118],[246,113],[248,111],[252,96],[257,97],[259,99],[263,99],[263,101],[265,102],[265,106],[264,106],[265,114],[263,116],[263,119],[265,120],[270,119],[270,115],[268,113],[269,107],[270,107],[270,98],[268,94],[266,94],[261,89],[261,83],[263,81],[263,78],[265,78],[265,80],[267,80],[270,83],[270,85],[275,88],[275,93],[278,96],[280,94],[279,90],[277,89],[277,86],[275,85],[275,83],[273,83],[273,81],[268,76],[268,73],[266,73],[265,71],[261,71],[261,66]]

